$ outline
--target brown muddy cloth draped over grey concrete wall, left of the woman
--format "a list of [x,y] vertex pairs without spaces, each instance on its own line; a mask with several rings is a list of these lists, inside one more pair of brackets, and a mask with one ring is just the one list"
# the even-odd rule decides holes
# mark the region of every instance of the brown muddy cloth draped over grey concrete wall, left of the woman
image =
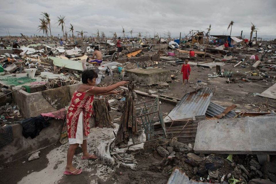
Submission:
[[43,97],[56,109],[62,109],[71,101],[70,87],[62,86],[59,88],[41,91]]

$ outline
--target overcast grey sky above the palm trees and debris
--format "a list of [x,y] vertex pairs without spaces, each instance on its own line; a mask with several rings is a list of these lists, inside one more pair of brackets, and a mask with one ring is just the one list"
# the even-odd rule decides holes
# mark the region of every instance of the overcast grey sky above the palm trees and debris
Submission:
[[[87,31],[93,36],[99,29],[106,35],[116,32],[133,36],[142,32],[153,37],[154,32],[171,31],[172,36],[204,30],[211,24],[211,34],[230,34],[227,27],[234,21],[231,35],[250,34],[251,22],[258,35],[276,35],[276,0],[0,0],[0,36],[43,35],[38,32],[41,12],[51,18],[53,35],[62,35],[57,16],[64,15],[66,29],[73,24],[75,31]],[[68,35],[71,33],[68,33]],[[74,32],[76,35],[76,32]],[[269,37],[268,37],[269,38]]]

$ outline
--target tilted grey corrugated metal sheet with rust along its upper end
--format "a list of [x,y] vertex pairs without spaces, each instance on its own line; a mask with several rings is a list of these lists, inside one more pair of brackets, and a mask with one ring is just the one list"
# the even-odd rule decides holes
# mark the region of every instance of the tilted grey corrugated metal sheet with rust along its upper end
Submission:
[[[215,89],[216,87],[203,87],[196,91],[186,93],[168,116],[172,120],[179,120],[205,115]],[[170,120],[168,116],[166,116],[164,121]]]

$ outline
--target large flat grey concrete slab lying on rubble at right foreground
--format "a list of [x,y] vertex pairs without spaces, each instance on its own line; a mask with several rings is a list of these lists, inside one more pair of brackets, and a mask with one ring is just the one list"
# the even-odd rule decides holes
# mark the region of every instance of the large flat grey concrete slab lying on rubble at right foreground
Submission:
[[223,120],[198,124],[195,153],[276,154],[276,115]]

